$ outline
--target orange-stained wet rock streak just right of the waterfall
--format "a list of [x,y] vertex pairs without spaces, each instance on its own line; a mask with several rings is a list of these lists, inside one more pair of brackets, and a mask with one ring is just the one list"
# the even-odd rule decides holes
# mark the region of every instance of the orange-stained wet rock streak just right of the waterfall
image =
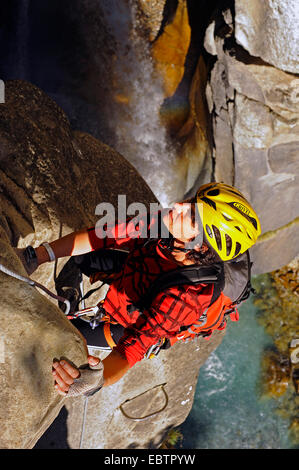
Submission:
[[[180,175],[179,198],[195,186],[210,181],[212,174],[205,97],[207,67],[199,54],[199,44],[195,44],[191,25],[196,20],[190,17],[192,11],[185,0],[167,3],[164,22],[151,46],[155,71],[162,79],[164,90],[161,121],[176,149],[174,170]],[[198,36],[196,38],[198,40]]]

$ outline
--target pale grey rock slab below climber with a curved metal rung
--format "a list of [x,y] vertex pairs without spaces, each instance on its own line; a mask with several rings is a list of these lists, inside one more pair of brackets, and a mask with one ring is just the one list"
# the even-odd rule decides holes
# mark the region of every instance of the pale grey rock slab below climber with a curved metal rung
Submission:
[[158,448],[168,431],[188,416],[198,370],[222,338],[219,331],[211,342],[201,338],[188,344],[177,343],[158,357],[139,362],[117,384],[89,398],[84,427],[84,399],[68,401],[70,446]]

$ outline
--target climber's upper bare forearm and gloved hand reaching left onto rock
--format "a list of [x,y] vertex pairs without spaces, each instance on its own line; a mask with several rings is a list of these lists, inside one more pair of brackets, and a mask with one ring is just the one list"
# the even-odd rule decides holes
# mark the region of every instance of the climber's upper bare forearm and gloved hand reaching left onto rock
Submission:
[[[64,237],[49,243],[49,245],[54,251],[56,258],[82,255],[92,251],[88,231],[86,229],[65,235]],[[35,249],[35,252],[39,265],[49,261],[49,255],[45,247],[39,246]]]

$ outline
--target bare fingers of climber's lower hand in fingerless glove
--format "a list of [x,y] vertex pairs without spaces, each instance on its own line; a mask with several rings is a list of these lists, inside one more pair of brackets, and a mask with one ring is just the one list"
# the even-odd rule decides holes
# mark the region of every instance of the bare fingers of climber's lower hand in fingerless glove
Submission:
[[[88,356],[90,366],[95,366],[99,362],[100,360],[97,357]],[[74,379],[80,377],[80,371],[66,360],[54,361],[52,375],[56,381],[56,391],[59,395],[66,396],[70,386],[74,383]]]

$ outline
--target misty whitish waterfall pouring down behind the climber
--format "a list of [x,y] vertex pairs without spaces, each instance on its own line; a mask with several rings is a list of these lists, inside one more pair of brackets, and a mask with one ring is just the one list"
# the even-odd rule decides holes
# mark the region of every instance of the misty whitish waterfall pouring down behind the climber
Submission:
[[101,0],[99,7],[115,47],[109,116],[116,139],[113,146],[167,206],[179,193],[174,170],[176,154],[160,122],[162,83],[155,73],[148,42],[136,29],[135,2]]

